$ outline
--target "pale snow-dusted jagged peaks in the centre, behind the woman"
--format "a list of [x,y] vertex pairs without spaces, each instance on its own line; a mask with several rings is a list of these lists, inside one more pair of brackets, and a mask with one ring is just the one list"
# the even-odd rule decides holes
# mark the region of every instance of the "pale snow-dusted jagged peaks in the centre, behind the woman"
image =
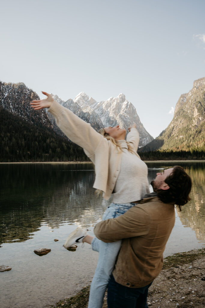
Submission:
[[72,110],[81,119],[91,123],[92,127],[96,130],[101,127],[115,126],[118,124],[128,131],[128,127],[136,123],[137,130],[140,134],[139,146],[144,146],[153,140],[153,137],[145,130],[143,124],[140,122],[135,107],[125,99],[125,95],[122,93],[117,97],[110,97],[106,101],[101,102],[97,102],[85,94],[85,92],[79,93],[74,100],[69,99],[63,101],[57,95],[53,95],[53,98],[62,106]]

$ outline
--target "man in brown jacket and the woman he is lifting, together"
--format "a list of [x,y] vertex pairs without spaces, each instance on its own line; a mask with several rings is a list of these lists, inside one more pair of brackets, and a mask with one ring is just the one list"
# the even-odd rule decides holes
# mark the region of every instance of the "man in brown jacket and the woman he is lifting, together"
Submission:
[[91,244],[99,252],[90,287],[88,308],[101,308],[108,288],[108,308],[148,308],[148,288],[160,273],[163,252],[175,222],[174,205],[190,198],[191,179],[175,166],[156,174],[149,193],[148,168],[137,154],[136,125],[126,130],[115,127],[96,132],[51,95],[32,101],[35,110],[49,108],[59,128],[70,140],[84,148],[95,165],[93,187],[112,203],[94,229],[96,237],[77,228],[65,242]]

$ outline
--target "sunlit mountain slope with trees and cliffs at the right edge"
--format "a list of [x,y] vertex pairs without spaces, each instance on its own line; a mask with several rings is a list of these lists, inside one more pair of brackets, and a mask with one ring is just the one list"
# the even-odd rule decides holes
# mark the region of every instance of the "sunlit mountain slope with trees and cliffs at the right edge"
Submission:
[[168,127],[141,152],[205,150],[205,78],[194,81],[189,93],[182,94]]

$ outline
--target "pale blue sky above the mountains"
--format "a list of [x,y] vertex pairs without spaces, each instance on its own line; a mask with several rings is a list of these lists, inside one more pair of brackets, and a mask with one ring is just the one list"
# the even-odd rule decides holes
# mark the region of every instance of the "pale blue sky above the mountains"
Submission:
[[0,80],[63,100],[124,93],[156,137],[205,77],[205,1],[0,0]]

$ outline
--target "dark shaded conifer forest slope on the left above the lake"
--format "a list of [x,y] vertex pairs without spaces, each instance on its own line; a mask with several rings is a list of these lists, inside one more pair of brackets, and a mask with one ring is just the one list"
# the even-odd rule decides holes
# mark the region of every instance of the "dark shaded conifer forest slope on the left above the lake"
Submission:
[[52,129],[35,126],[0,107],[0,161],[89,161],[83,149]]

